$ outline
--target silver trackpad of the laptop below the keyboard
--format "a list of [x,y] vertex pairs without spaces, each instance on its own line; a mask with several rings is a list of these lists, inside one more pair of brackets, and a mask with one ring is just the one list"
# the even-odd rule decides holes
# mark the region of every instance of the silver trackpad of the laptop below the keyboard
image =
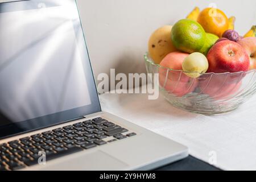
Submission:
[[[63,161],[61,161],[63,159]],[[49,162],[43,170],[118,170],[125,169],[128,165],[103,151],[91,154],[80,154],[70,159],[60,158],[57,162]]]

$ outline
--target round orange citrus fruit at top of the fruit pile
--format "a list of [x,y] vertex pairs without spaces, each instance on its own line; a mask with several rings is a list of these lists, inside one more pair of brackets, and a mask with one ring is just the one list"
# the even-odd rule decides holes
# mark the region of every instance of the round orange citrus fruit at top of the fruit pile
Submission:
[[201,24],[205,32],[221,37],[229,28],[229,19],[223,11],[208,7],[199,14],[197,22]]

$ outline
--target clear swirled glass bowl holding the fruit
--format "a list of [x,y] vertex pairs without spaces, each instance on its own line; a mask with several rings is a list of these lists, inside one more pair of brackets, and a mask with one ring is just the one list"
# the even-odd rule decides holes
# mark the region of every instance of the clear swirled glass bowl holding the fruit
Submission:
[[[160,93],[171,105],[205,115],[232,111],[256,92],[255,69],[236,73],[200,73],[191,78],[183,71],[161,67],[144,55],[148,73],[159,73]],[[154,84],[154,80],[152,80]],[[155,85],[153,85],[155,86]]]

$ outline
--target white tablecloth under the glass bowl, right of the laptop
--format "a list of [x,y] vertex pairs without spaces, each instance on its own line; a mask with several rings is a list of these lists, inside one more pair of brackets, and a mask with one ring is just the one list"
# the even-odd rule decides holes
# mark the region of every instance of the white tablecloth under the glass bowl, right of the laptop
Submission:
[[256,97],[216,116],[176,109],[163,96],[105,93],[100,100],[102,110],[188,146],[196,158],[209,162],[216,156],[219,168],[256,170]]

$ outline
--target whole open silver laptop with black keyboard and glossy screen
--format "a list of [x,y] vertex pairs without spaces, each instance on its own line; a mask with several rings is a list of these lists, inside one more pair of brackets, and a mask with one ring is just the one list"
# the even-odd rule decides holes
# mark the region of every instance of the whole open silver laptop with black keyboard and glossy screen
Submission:
[[0,3],[0,27],[0,170],[148,170],[188,156],[101,110],[75,0]]

